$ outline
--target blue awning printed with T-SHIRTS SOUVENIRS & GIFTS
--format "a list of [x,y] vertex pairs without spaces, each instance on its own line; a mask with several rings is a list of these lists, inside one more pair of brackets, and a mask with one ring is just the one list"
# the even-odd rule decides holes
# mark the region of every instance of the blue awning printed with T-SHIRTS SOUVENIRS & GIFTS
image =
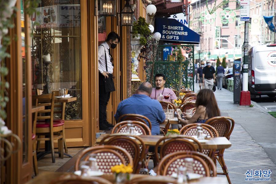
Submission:
[[200,35],[184,24],[171,18],[156,18],[155,32],[161,33],[160,40],[199,44]]

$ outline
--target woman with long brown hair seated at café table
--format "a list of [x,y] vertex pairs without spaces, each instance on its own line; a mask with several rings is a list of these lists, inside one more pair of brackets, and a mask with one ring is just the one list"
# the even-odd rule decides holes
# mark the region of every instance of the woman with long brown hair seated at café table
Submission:
[[193,116],[183,112],[183,118],[178,114],[181,124],[205,123],[207,119],[220,116],[220,109],[216,103],[214,93],[210,89],[201,89],[196,97],[196,112]]

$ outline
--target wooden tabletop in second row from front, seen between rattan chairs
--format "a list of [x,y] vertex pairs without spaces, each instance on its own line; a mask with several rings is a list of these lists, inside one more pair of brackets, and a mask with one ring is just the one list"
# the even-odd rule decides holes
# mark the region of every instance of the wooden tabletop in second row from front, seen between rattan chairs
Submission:
[[[96,139],[96,142],[99,143],[107,135],[110,135],[110,134],[100,135],[100,137]],[[147,146],[155,146],[157,141],[164,136],[163,135],[139,135],[139,137],[142,138],[143,142]],[[232,145],[231,142],[226,137],[214,137],[214,138],[208,139],[207,142],[200,141],[200,143],[203,149],[226,149],[231,147]],[[160,143],[160,145],[162,145],[162,143]]]

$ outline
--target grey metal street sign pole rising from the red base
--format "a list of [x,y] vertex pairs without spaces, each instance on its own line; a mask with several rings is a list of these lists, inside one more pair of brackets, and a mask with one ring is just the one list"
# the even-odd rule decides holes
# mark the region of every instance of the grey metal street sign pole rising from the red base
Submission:
[[244,22],[244,42],[243,42],[243,91],[248,91],[248,32],[249,22]]

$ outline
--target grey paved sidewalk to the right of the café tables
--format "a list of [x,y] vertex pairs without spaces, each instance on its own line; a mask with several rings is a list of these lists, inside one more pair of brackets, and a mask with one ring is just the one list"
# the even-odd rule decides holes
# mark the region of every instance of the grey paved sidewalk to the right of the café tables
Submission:
[[[199,85],[195,83],[195,92]],[[255,102],[254,107],[233,103],[233,92],[216,90],[215,96],[222,116],[235,120],[230,136],[232,146],[224,151],[224,160],[233,184],[276,182],[276,119]],[[218,172],[222,172],[217,163]],[[271,181],[245,181],[247,170],[270,169]],[[220,175],[219,175],[220,176]],[[224,176],[223,176],[224,177]]]

